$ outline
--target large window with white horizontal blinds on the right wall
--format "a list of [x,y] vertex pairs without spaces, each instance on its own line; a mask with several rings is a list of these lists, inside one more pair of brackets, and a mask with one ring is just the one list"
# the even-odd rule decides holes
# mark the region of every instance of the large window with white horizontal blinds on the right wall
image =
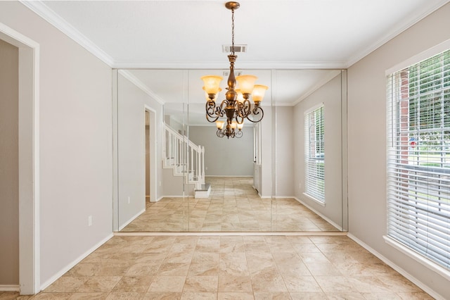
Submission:
[[450,51],[388,77],[387,235],[450,270]]

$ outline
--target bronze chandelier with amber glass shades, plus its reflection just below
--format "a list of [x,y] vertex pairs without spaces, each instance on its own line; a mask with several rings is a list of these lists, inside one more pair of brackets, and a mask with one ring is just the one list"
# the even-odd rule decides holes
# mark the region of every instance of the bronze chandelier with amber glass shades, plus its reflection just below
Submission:
[[[216,105],[216,96],[220,91],[221,76],[207,75],[203,76],[203,89],[207,94],[206,102],[206,119],[208,122],[215,122],[217,125],[218,137],[242,137],[242,127],[244,119],[247,118],[253,123],[257,123],[264,117],[264,111],[260,106],[260,102],[264,98],[266,92],[265,85],[255,85],[257,80],[253,75],[234,76],[234,63],[236,61],[236,54],[234,54],[234,10],[239,8],[238,2],[226,2],[225,7],[231,9],[231,54],[228,56],[230,61],[230,75],[228,77],[228,92],[225,94],[225,100],[219,106]],[[236,88],[236,80],[239,83],[240,89]],[[250,104],[250,94],[252,100],[255,102],[253,108]],[[220,117],[226,115],[225,122],[218,120]],[[236,131],[238,128],[238,131]]]

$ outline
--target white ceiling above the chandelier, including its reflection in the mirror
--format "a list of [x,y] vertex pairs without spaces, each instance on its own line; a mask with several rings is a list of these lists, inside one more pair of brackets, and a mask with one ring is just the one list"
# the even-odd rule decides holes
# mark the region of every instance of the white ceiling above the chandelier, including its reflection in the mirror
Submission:
[[[248,50],[238,54],[236,68],[273,89],[276,73],[277,104],[292,106],[333,77],[330,69],[348,68],[449,1],[241,0],[235,44]],[[162,103],[187,94],[204,104],[200,76],[229,68],[222,52],[231,44],[225,1],[22,3],[112,68],[158,69],[128,75]],[[271,93],[265,104],[274,100]]]

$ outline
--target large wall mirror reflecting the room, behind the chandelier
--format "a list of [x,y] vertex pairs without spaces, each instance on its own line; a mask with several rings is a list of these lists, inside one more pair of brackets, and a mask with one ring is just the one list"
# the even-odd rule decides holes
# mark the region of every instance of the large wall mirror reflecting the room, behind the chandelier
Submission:
[[[260,123],[247,120],[240,138],[221,138],[216,124],[205,118],[200,77],[215,74],[226,79],[227,72],[117,72],[115,230],[346,230],[346,203],[342,200],[346,199],[342,189],[345,73],[238,70],[257,75],[258,84],[269,86],[262,101],[264,118]],[[224,81],[217,95],[218,104],[225,99]],[[324,111],[326,151],[319,158],[325,202],[314,199],[304,189],[308,180],[305,113],[319,104],[323,104]],[[146,123],[146,111],[153,115],[150,125]],[[152,139],[146,139],[148,136],[153,136],[153,145]],[[155,161],[153,171],[146,169],[147,151]],[[153,186],[146,185],[149,173]]]

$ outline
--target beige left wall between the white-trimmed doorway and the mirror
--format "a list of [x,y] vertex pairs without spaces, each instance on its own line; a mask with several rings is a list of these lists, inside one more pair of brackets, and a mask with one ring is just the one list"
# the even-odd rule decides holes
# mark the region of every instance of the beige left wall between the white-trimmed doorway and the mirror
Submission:
[[40,49],[39,251],[45,287],[113,232],[111,68],[18,1],[0,1],[0,20]]

